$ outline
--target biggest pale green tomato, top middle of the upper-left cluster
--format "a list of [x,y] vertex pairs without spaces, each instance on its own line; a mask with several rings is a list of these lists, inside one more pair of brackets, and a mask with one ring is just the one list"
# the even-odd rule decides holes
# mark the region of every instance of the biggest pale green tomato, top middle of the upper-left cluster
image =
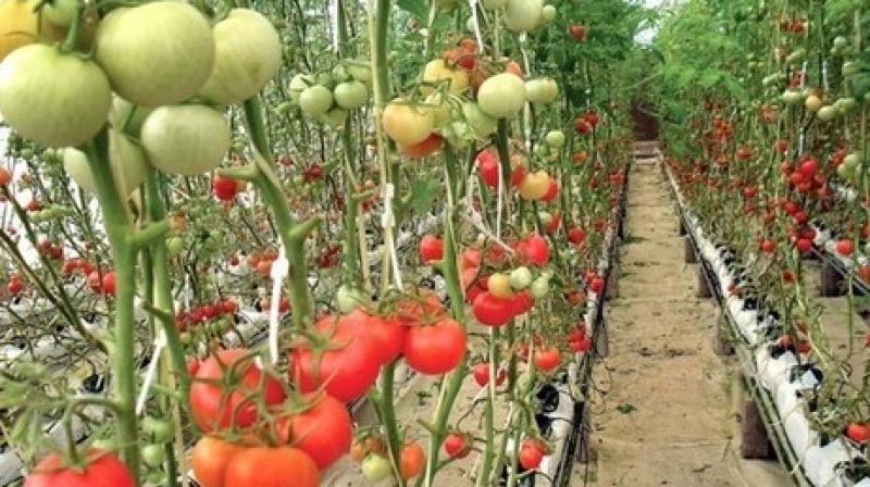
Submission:
[[157,1],[115,9],[97,29],[97,62],[112,88],[141,107],[196,96],[214,66],[214,36],[192,5]]

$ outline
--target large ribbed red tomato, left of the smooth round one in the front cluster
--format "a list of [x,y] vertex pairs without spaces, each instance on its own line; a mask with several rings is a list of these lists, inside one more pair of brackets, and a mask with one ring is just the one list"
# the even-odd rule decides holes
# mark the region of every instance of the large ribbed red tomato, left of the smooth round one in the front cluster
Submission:
[[336,322],[332,316],[318,321],[315,327],[327,347],[319,351],[306,341],[293,349],[290,378],[298,382],[302,392],[323,387],[345,403],[362,397],[377,379],[383,363],[377,342],[350,322]]

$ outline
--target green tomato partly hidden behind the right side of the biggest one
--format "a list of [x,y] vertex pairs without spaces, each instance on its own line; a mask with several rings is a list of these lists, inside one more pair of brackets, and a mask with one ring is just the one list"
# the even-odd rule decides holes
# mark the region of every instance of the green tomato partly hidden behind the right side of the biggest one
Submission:
[[250,9],[233,9],[214,26],[214,68],[200,95],[217,104],[240,103],[260,92],[281,68],[281,38]]

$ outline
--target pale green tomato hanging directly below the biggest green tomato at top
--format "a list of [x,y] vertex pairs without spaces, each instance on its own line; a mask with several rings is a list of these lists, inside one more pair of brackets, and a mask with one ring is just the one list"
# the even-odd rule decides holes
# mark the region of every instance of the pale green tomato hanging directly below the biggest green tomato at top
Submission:
[[224,115],[209,107],[161,107],[145,121],[141,143],[154,167],[198,176],[221,165],[232,134]]

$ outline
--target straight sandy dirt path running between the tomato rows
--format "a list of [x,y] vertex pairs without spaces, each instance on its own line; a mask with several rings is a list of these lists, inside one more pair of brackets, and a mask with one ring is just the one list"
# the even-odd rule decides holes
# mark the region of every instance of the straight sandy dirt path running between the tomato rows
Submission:
[[593,411],[591,484],[792,485],[776,463],[738,460],[735,363],[712,352],[717,309],[695,298],[696,269],[683,263],[658,166],[633,166],[627,204],[620,297],[607,307],[610,354],[596,370],[606,392]]

